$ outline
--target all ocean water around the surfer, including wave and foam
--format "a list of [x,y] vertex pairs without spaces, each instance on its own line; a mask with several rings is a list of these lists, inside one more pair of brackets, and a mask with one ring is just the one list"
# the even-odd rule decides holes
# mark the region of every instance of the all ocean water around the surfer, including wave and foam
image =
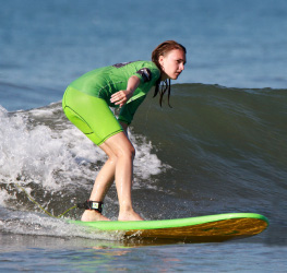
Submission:
[[[11,0],[0,9],[0,270],[285,272],[285,0]],[[65,86],[166,39],[188,50],[171,105],[146,102],[130,128],[134,206],[147,219],[254,212],[262,234],[225,244],[123,241],[59,215],[105,162],[64,117]],[[67,217],[79,218],[72,210]],[[115,187],[105,215],[116,219]]]

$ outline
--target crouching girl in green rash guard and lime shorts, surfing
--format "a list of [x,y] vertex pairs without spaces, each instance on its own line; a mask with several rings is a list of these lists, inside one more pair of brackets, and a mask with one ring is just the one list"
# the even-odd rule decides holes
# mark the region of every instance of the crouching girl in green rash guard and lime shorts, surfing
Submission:
[[[134,147],[128,138],[128,126],[147,92],[155,86],[163,95],[170,79],[177,80],[184,69],[186,48],[167,40],[155,48],[152,61],[117,63],[93,70],[72,82],[63,96],[62,106],[68,119],[108,156],[97,175],[82,221],[108,221],[101,215],[103,201],[113,180],[119,199],[119,221],[142,221],[133,211],[131,188]],[[160,82],[165,88],[159,91]],[[120,107],[118,119],[109,107]]]

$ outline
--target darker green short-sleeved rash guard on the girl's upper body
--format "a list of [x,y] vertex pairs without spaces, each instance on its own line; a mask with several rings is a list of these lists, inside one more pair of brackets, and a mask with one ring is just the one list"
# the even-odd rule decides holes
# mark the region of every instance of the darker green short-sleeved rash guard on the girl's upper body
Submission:
[[154,62],[134,61],[96,69],[80,76],[69,86],[87,95],[103,98],[110,107],[118,107],[110,103],[110,96],[118,91],[127,90],[128,80],[132,75],[137,76],[141,83],[128,103],[121,107],[118,118],[130,124],[137,107],[160,78],[160,71]]

